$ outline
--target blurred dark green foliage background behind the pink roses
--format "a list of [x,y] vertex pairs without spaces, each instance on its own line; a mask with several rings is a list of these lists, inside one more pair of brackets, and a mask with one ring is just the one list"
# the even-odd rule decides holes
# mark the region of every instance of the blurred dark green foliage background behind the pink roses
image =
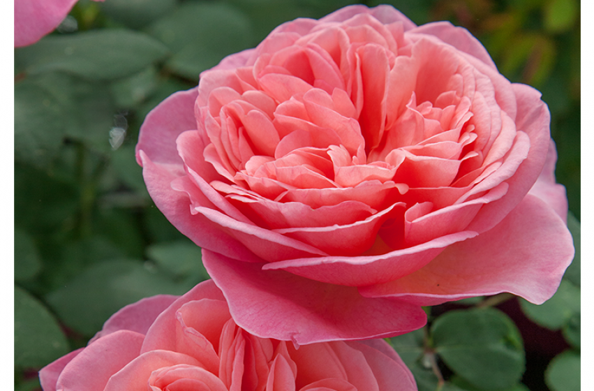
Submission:
[[[15,390],[38,390],[40,367],[85,346],[124,305],[183,294],[208,278],[200,249],[168,223],[145,189],[134,157],[145,115],[282,22],[319,18],[351,3],[82,0],[50,36],[15,49]],[[384,3],[417,24],[450,20],[466,27],[503,75],[542,91],[579,249],[579,1]],[[432,307],[428,327],[392,344],[421,391],[579,390],[579,275],[578,251],[544,306],[504,296]],[[517,353],[513,371],[500,372],[497,360],[512,358],[481,342],[468,357],[499,358],[466,374],[433,338],[463,327],[481,307],[497,308],[488,324],[506,325],[497,344]],[[493,376],[508,381],[493,383]]]

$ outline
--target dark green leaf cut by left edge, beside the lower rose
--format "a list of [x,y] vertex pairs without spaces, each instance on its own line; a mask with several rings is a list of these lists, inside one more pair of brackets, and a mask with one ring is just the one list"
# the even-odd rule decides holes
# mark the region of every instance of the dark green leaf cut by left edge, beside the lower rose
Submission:
[[40,368],[68,351],[66,337],[50,311],[15,286],[15,367]]

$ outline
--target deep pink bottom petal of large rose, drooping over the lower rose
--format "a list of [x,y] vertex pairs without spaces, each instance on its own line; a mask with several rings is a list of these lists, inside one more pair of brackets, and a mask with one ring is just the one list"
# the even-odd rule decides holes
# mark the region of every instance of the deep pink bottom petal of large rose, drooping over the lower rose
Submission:
[[[399,300],[367,300],[356,288],[320,283],[202,249],[202,261],[235,323],[258,337],[297,345],[389,337],[422,327],[426,314]],[[279,316],[290,314],[290,316]]]

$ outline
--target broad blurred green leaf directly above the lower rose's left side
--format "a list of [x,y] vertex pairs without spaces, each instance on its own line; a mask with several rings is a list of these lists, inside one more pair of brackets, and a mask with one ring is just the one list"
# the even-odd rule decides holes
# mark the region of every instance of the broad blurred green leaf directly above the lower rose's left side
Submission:
[[132,260],[112,260],[92,265],[64,288],[47,295],[47,302],[68,327],[90,337],[127,304],[143,297],[185,292],[186,287],[157,274],[154,268]]

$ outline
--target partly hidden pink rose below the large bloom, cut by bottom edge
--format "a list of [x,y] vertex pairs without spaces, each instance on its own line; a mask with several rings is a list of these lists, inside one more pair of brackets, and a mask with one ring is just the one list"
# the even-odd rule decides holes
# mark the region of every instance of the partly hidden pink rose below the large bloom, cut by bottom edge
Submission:
[[416,391],[413,374],[380,339],[299,347],[232,320],[211,280],[115,313],[80,348],[39,372],[45,391]]

